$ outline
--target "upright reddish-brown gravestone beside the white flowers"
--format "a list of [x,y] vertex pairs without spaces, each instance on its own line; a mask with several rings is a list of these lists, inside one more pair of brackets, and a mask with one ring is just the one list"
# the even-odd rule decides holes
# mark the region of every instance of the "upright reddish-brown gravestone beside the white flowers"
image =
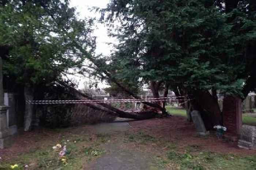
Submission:
[[223,100],[223,123],[227,133],[240,135],[242,127],[242,101],[238,97],[226,96]]

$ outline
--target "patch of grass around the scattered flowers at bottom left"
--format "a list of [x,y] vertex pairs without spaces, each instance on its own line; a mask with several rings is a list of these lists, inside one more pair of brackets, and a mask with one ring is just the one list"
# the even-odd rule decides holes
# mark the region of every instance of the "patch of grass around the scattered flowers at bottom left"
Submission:
[[[86,162],[105,153],[100,144],[106,140],[108,136],[97,136],[97,139],[91,141],[89,136],[72,134],[68,138],[61,137],[58,143],[67,146],[65,159],[67,165],[64,165],[59,157],[60,149],[54,150],[52,147],[57,143],[49,142],[47,146],[30,150],[27,153],[21,153],[18,158],[11,161],[1,161],[0,170],[23,170],[24,165],[29,165],[29,170],[80,170]],[[86,147],[90,146],[90,147]],[[17,164],[18,167],[11,169],[11,165]]]

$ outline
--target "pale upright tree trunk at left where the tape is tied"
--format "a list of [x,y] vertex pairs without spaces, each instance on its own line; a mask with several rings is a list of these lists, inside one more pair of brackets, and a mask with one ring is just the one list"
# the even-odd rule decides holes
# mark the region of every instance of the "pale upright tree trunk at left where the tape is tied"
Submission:
[[[27,101],[27,100],[32,101],[34,99],[34,87],[25,86],[24,87],[24,97],[25,97],[25,101]],[[34,114],[33,105],[26,103],[25,114],[24,114],[24,131],[31,130],[33,114]]]

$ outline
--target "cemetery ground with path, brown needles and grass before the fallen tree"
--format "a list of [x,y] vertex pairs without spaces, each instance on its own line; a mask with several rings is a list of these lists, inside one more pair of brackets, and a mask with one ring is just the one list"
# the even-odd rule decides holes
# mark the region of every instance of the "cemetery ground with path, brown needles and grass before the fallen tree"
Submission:
[[[66,165],[53,149],[56,144],[67,146]],[[175,115],[20,131],[0,157],[0,170],[15,164],[16,170],[256,170],[256,150],[217,139],[215,132],[196,136],[194,125]]]

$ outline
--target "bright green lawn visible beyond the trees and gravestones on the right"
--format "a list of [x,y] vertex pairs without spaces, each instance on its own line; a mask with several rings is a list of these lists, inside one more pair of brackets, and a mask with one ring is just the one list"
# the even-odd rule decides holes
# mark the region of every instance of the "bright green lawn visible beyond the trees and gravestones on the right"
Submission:
[[[172,115],[184,116],[184,117],[187,116],[185,109],[176,109],[174,107],[166,106],[166,110]],[[242,122],[243,124],[246,124],[246,125],[256,126],[255,114],[251,114],[251,113],[242,114]]]

